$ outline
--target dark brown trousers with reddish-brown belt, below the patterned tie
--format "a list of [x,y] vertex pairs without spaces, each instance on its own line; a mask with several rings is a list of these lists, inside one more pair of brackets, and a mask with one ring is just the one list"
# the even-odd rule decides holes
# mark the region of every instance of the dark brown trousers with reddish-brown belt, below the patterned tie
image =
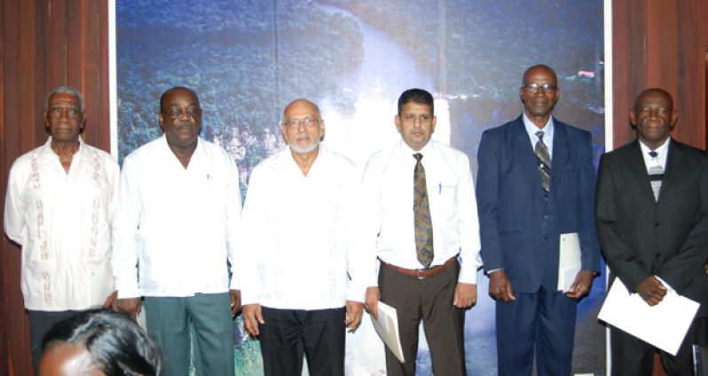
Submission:
[[397,310],[405,358],[405,364],[401,364],[386,348],[387,375],[415,374],[421,320],[430,348],[433,373],[445,376],[467,374],[463,338],[466,310],[452,305],[459,275],[458,263],[425,279],[405,276],[382,265],[379,270],[381,299]]

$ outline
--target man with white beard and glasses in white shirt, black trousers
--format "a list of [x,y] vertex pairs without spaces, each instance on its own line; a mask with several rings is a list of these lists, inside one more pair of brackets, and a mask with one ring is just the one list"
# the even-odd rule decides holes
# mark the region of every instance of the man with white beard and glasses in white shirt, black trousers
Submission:
[[319,107],[296,99],[280,133],[287,147],[251,173],[239,256],[243,322],[261,342],[266,375],[344,374],[345,329],[361,323],[374,273],[374,236],[361,173],[320,144]]

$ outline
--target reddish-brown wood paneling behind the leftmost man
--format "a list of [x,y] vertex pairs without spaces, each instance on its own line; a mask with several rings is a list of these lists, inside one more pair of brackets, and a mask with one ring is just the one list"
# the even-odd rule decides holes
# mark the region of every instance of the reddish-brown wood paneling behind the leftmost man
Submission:
[[[83,92],[84,140],[107,150],[108,1],[0,2],[0,194],[12,161],[47,138],[44,100],[68,84]],[[2,218],[0,218],[2,221]],[[32,374],[27,315],[20,293],[20,249],[0,241],[0,374]]]

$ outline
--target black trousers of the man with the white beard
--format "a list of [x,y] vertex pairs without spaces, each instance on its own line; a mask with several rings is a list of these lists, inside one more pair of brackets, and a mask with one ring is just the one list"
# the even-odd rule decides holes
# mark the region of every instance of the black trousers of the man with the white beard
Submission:
[[262,307],[259,324],[264,373],[303,374],[303,355],[311,376],[344,375],[346,309],[273,309]]

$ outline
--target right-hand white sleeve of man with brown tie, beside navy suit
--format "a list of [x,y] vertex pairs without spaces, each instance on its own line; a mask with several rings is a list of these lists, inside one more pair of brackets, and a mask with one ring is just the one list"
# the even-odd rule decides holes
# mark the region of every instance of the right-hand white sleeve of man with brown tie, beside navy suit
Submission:
[[459,282],[476,284],[477,269],[482,266],[479,256],[479,220],[472,171],[467,155],[459,161],[460,186],[457,190],[457,231],[460,235],[460,277]]

